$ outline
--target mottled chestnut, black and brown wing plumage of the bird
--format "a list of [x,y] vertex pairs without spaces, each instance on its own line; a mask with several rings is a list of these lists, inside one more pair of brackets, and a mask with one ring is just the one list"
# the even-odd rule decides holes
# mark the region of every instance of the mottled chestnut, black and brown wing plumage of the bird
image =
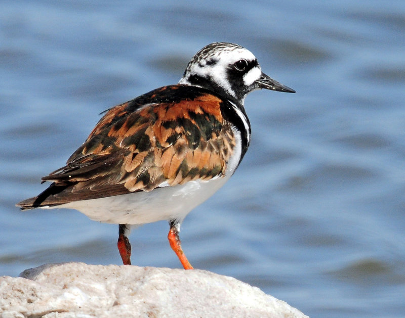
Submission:
[[221,176],[235,146],[221,103],[206,93],[135,111],[128,103],[116,106],[67,165],[43,180],[66,187],[55,196],[61,204]]

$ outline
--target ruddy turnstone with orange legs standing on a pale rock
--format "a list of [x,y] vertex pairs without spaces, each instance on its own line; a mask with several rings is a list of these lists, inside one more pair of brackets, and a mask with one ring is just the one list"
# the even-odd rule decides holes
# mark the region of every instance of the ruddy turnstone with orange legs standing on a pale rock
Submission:
[[131,265],[131,228],[167,220],[171,248],[184,269],[193,269],[181,247],[180,224],[239,166],[251,140],[245,98],[262,88],[295,93],[263,73],[244,47],[208,44],[177,84],[103,112],[66,165],[42,177],[49,187],[17,206],[75,209],[118,224],[124,265]]

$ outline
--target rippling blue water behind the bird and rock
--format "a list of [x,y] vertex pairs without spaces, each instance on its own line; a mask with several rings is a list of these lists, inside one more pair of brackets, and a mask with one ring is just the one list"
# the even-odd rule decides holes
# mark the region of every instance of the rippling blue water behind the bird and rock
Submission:
[[[405,2],[9,1],[0,6],[0,275],[119,264],[117,226],[20,212],[103,110],[175,83],[213,41],[251,50],[297,94],[246,100],[252,144],[182,226],[196,268],[313,317],[405,311]],[[131,234],[133,263],[180,267],[166,222]]]

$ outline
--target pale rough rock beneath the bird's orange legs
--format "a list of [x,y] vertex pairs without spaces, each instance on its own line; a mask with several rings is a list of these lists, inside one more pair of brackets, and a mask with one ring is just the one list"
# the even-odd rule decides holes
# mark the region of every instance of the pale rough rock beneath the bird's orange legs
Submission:
[[307,317],[204,270],[46,264],[0,277],[0,317]]

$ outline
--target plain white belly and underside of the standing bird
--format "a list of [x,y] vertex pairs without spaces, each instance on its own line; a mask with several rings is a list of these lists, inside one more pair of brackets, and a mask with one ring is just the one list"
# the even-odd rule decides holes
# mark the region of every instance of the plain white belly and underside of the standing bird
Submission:
[[188,181],[184,185],[167,186],[150,192],[74,201],[51,208],[76,209],[93,220],[105,223],[140,225],[172,219],[181,222],[193,208],[221,188],[236,169],[241,153],[241,140],[240,133],[235,130],[233,132],[236,146],[222,177],[209,181]]

